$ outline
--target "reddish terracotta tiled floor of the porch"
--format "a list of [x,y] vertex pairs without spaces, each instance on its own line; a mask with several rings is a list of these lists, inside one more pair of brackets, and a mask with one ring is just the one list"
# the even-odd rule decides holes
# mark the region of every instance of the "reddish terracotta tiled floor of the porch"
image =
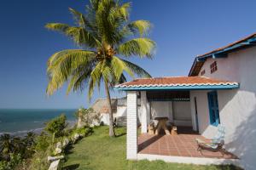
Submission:
[[138,154],[160,155],[160,156],[185,156],[195,158],[218,158],[237,159],[229,152],[224,156],[221,152],[209,150],[197,150],[195,139],[207,141],[203,136],[192,130],[190,127],[177,127],[177,135],[151,135],[142,133],[138,136]]

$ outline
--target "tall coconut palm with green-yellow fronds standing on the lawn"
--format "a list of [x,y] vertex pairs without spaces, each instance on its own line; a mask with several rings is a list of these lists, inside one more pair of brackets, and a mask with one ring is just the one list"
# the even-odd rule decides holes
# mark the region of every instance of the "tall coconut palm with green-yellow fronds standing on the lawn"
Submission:
[[109,136],[114,136],[113,112],[109,89],[125,82],[125,75],[150,77],[138,65],[128,61],[129,57],[149,58],[153,56],[155,42],[149,39],[151,24],[147,20],[129,20],[131,3],[118,0],[90,0],[85,14],[69,8],[75,26],[49,23],[46,28],[60,31],[75,42],[79,49],[67,49],[53,54],[48,60],[49,84],[47,94],[68,82],[67,94],[73,90],[81,92],[104,83],[109,108]]

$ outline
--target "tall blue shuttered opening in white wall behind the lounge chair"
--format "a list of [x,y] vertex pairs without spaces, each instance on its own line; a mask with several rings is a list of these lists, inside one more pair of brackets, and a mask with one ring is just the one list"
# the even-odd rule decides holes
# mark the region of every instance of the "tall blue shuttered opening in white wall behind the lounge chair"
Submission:
[[218,124],[220,123],[220,120],[219,120],[219,111],[218,111],[217,91],[209,92],[207,95],[208,95],[208,104],[209,104],[209,113],[210,113],[210,123],[213,126],[218,126]]

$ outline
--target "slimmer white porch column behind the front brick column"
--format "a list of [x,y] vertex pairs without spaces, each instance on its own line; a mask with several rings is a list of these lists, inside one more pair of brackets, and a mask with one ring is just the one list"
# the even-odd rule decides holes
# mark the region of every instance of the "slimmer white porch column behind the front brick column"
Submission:
[[148,105],[146,91],[141,92],[141,111],[142,111],[142,133],[147,133],[148,127]]

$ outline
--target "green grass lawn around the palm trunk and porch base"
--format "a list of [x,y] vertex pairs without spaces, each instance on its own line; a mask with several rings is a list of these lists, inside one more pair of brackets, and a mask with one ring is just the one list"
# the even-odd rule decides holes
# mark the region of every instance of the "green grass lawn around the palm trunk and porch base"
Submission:
[[166,169],[240,169],[233,166],[195,166],[164,161],[127,161],[125,159],[125,128],[116,128],[117,138],[108,137],[108,127],[96,127],[94,133],[79,141],[67,153],[63,169],[83,170],[166,170]]

